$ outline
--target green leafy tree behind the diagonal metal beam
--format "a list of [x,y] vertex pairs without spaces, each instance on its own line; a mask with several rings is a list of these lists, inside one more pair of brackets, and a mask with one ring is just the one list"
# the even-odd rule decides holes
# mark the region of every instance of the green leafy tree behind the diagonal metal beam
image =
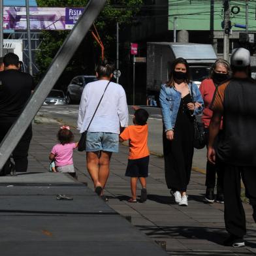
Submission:
[[[37,0],[37,3],[39,7],[86,7],[88,0]],[[103,41],[107,57],[113,58],[115,55],[113,42],[116,40],[116,22],[120,22],[121,27],[131,24],[140,5],[142,5],[142,0],[106,1],[103,11],[95,21],[95,26]],[[36,57],[40,70],[39,78],[48,69],[68,33],[69,31],[44,31],[42,33],[42,43]],[[95,62],[99,59],[100,54],[100,46],[88,33],[66,71],[71,72],[72,75],[89,74],[94,71]]]

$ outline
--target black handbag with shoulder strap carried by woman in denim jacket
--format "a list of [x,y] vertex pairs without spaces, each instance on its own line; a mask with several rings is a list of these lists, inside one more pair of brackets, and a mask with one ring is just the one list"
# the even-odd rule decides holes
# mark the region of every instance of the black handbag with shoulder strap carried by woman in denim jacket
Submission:
[[[191,88],[191,97],[193,103],[194,96],[193,96],[193,89]],[[205,133],[204,133],[204,123],[202,121],[198,121],[197,118],[194,119],[194,148],[197,148],[197,150],[201,150],[206,145],[205,140]]]

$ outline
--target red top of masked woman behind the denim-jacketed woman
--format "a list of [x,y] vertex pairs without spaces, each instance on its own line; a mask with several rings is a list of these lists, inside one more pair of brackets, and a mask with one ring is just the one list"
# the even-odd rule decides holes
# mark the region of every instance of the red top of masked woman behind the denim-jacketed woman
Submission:
[[[214,82],[212,81],[212,79],[207,78],[202,81],[202,83],[200,84],[199,90],[202,95],[202,99],[204,101],[204,111],[202,112],[202,122],[204,123],[205,127],[208,128],[212,118],[212,110],[210,110],[210,104],[212,103],[216,86],[214,85]],[[222,120],[221,120],[221,129],[222,129]]]

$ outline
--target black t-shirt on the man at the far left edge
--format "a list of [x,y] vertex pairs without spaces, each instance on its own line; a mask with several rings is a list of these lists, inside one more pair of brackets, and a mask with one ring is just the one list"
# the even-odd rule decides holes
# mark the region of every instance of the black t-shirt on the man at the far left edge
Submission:
[[30,74],[16,69],[0,72],[0,118],[18,117],[34,88]]

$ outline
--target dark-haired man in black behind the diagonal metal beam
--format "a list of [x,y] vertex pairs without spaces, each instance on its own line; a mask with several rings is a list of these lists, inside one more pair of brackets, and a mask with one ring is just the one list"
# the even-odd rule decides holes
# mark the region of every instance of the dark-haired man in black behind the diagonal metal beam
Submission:
[[[8,53],[3,58],[5,71],[0,72],[0,142],[12,124],[20,116],[25,103],[34,89],[33,78],[30,74],[20,72],[19,58],[16,54]],[[16,172],[27,171],[27,152],[32,138],[32,126],[29,125],[20,142],[12,152]],[[10,163],[8,159],[7,164]],[[3,172],[2,172],[2,175]]]

